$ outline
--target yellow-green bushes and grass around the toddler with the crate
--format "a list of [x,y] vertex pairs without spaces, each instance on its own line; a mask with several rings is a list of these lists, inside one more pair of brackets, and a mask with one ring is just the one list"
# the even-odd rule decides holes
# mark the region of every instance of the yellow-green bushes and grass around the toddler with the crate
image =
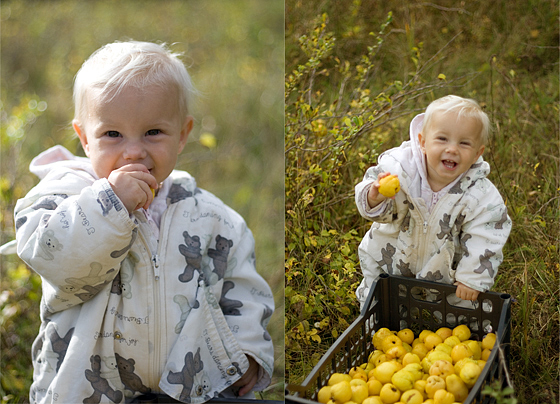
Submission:
[[493,290],[514,299],[515,395],[557,403],[558,2],[439,3],[286,2],[286,379],[303,381],[358,314],[354,185],[416,113],[457,94],[491,118],[485,159],[513,220]]

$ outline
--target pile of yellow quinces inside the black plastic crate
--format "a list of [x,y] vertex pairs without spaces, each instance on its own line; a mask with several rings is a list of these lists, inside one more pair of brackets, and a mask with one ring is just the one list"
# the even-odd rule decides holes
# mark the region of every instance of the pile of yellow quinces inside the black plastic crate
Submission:
[[476,383],[496,342],[488,333],[470,339],[466,325],[423,330],[381,328],[367,363],[334,373],[318,393],[323,404],[462,403]]

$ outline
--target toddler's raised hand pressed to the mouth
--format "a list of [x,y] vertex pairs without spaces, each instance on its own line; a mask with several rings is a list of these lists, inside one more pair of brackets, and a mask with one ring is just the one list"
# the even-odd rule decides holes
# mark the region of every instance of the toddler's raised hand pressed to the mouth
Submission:
[[109,184],[129,213],[148,209],[154,200],[153,189],[158,188],[155,177],[143,164],[128,164],[109,174]]

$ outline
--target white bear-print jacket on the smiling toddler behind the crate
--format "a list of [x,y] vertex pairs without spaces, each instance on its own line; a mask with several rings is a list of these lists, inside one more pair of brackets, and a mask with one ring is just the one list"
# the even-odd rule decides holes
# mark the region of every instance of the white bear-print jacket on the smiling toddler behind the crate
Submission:
[[[359,246],[364,279],[356,295],[361,303],[382,272],[459,281],[484,292],[494,285],[503,260],[512,223],[500,193],[486,178],[490,166],[480,157],[452,184],[432,192],[418,144],[423,115],[410,125],[411,140],[383,153],[356,185],[358,210],[374,222]],[[382,172],[397,174],[401,191],[372,210],[367,192]]]

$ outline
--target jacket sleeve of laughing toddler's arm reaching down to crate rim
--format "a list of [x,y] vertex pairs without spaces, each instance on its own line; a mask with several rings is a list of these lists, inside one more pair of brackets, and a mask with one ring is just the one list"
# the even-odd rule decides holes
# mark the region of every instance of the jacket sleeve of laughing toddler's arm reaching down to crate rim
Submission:
[[462,258],[455,274],[458,282],[480,292],[494,285],[512,226],[507,207],[493,185],[483,198],[484,203],[479,203],[463,223]]

